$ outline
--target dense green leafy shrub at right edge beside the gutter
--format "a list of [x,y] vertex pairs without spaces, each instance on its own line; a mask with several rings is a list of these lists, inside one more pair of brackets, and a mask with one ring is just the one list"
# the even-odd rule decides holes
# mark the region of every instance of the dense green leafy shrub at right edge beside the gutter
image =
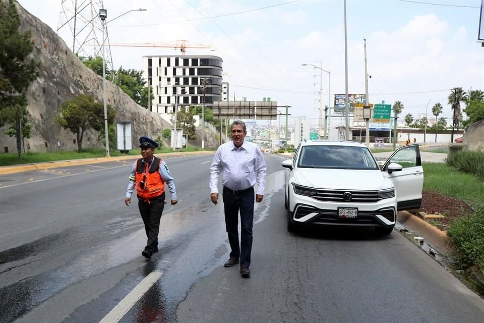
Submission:
[[452,221],[447,234],[455,259],[464,266],[476,265],[484,275],[484,207]]

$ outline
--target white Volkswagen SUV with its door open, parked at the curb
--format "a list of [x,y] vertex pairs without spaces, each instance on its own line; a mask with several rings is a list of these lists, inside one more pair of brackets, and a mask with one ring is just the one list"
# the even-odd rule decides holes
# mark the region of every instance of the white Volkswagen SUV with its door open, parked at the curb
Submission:
[[419,208],[423,169],[418,145],[378,162],[354,141],[303,141],[282,166],[287,230],[302,225],[374,227],[390,234],[397,210]]

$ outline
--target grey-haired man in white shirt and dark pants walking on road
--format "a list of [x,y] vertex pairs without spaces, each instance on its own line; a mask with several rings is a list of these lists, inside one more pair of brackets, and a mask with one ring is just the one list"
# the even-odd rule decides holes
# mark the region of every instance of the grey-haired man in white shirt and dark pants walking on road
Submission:
[[[252,226],[254,222],[254,185],[258,184],[255,201],[261,202],[266,187],[266,162],[259,146],[245,141],[247,127],[243,121],[234,121],[232,141],[218,147],[210,167],[210,198],[218,200],[218,176],[223,171],[223,206],[225,228],[230,243],[230,258],[225,267],[240,260],[240,275],[251,276]],[[240,247],[238,244],[238,212],[240,210]]]

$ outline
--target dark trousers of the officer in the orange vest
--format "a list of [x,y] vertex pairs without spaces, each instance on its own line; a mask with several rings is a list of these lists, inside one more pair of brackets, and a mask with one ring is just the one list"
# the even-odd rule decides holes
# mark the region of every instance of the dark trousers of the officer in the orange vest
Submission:
[[153,198],[149,203],[138,200],[138,207],[145,224],[146,237],[148,238],[145,250],[149,250],[151,253],[158,250],[158,232],[160,231],[160,219],[164,206],[165,193]]

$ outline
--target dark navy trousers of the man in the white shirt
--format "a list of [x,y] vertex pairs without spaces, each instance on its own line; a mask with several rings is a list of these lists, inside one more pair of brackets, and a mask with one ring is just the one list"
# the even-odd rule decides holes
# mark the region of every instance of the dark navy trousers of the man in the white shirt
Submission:
[[[252,251],[252,225],[254,223],[254,189],[244,194],[222,191],[225,228],[230,243],[230,257],[239,258],[240,266],[249,267]],[[240,248],[238,246],[238,212],[240,211]]]

